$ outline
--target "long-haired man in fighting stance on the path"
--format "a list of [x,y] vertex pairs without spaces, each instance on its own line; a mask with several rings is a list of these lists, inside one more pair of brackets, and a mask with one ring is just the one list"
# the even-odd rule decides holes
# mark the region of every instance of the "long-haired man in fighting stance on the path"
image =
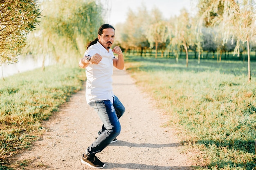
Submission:
[[[79,66],[86,71],[86,101],[94,108],[101,121],[102,129],[91,146],[85,150],[81,162],[92,168],[103,168],[96,153],[101,152],[121,131],[119,118],[124,114],[125,108],[112,91],[113,66],[124,68],[124,57],[119,46],[110,49],[115,40],[115,29],[110,24],[103,24],[98,30],[98,38],[88,44],[84,57]],[[114,56],[118,55],[118,58]]]

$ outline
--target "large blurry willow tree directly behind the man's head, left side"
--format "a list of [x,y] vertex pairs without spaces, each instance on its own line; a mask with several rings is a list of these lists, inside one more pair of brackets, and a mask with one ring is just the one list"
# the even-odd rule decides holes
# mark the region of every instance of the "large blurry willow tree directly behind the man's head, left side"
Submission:
[[103,24],[101,4],[94,0],[44,0],[40,26],[29,35],[26,53],[70,64],[81,57]]

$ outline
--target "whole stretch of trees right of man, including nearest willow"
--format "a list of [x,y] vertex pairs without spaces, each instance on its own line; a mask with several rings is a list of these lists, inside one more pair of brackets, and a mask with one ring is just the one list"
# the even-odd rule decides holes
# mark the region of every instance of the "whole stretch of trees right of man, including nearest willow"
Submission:
[[[248,81],[250,82],[250,51],[255,49],[254,35],[255,6],[254,0],[198,0],[198,13],[190,16],[182,9],[179,16],[164,20],[159,9],[148,12],[142,5],[137,12],[130,10],[124,24],[118,24],[117,43],[128,51],[155,49],[173,51],[178,60],[181,48],[186,52],[188,66],[188,51],[191,49],[202,52],[222,53],[234,51],[238,56],[247,51]],[[243,44],[246,44],[245,46]],[[221,58],[217,57],[218,60]]]

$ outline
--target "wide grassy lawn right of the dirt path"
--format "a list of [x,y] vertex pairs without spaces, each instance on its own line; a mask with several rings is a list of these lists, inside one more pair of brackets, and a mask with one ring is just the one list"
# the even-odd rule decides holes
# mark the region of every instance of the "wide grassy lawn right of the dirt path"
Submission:
[[[240,61],[126,57],[126,69],[169,115],[195,168],[252,170],[256,166],[256,63],[247,83]],[[255,168],[254,168],[255,169]]]

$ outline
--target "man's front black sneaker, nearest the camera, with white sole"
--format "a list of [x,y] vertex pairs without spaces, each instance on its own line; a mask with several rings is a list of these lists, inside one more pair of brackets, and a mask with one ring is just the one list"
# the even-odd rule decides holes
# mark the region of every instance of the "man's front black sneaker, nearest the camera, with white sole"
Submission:
[[105,163],[101,162],[99,160],[99,158],[96,157],[95,155],[87,156],[87,155],[85,155],[85,153],[83,153],[81,162],[85,165],[88,165],[92,168],[97,168],[97,169],[101,169],[101,168],[104,168],[106,166]]

